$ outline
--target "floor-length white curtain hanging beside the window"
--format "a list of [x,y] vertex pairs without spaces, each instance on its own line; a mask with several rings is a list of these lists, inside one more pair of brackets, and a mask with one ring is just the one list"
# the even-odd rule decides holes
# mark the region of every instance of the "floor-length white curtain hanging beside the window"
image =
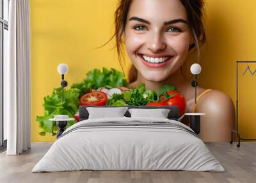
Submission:
[[10,0],[8,61],[4,72],[4,107],[8,155],[30,148],[29,0]]

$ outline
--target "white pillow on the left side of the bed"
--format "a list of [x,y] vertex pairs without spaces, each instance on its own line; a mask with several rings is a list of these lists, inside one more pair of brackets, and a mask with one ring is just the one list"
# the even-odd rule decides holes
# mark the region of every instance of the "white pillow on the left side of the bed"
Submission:
[[89,117],[95,118],[119,118],[125,117],[124,114],[128,107],[86,107]]

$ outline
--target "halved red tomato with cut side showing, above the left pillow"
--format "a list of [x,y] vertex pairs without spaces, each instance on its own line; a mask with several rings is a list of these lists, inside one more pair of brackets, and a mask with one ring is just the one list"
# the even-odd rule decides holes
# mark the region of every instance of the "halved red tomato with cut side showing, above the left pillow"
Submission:
[[82,106],[104,106],[108,102],[108,96],[104,92],[90,92],[79,99]]

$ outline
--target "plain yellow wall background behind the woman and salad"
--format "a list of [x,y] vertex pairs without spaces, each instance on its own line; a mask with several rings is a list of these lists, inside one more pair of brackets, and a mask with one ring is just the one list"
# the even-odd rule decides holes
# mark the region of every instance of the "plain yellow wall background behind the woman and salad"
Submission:
[[[69,83],[82,81],[93,68],[122,70],[111,48],[115,42],[93,50],[113,35],[113,13],[117,0],[30,0],[31,9],[31,141],[54,141],[40,136],[36,115],[44,113],[42,104],[52,88],[60,86],[59,63],[67,63]],[[204,88],[226,92],[236,102],[236,60],[256,60],[256,1],[207,0],[207,44],[202,49]],[[130,61],[126,57],[126,72]],[[193,56],[189,59],[192,63]],[[189,66],[190,63],[188,62]],[[241,73],[243,73],[243,65]],[[253,70],[256,64],[252,64]],[[189,71],[189,67],[186,69]],[[241,113],[243,138],[256,138],[256,76],[241,77]],[[189,78],[189,75],[188,75]],[[254,79],[253,79],[254,78]],[[246,89],[246,87],[248,87]],[[247,94],[246,94],[247,93]],[[248,96],[246,96],[248,95]],[[239,99],[240,100],[240,99]],[[253,103],[255,103],[253,105]],[[246,110],[244,110],[246,109]],[[254,135],[254,136],[253,136]]]

